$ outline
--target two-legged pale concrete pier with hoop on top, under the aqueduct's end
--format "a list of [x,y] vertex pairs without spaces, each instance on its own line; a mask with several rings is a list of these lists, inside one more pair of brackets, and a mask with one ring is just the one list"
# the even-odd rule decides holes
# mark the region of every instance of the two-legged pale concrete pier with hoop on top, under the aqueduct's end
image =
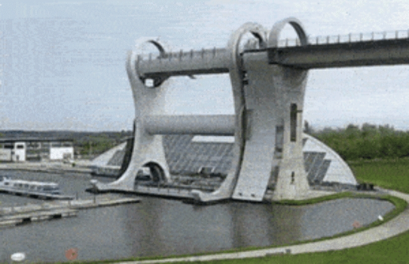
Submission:
[[[295,18],[276,23],[268,48],[277,46],[281,30],[290,23],[306,44],[306,34]],[[302,107],[307,72],[269,65],[266,53],[244,53],[248,83],[244,86],[246,142],[233,198],[262,201],[269,179],[279,171],[277,195],[293,199],[305,192],[302,155]]]

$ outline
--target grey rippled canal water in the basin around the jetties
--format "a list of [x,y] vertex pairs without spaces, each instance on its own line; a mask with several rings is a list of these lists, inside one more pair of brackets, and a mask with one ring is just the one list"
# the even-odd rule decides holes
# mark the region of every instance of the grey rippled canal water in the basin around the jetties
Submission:
[[[85,192],[92,179],[89,174],[4,170],[0,175],[52,180],[64,194],[92,196]],[[43,201],[0,194],[0,202],[0,206],[10,206]],[[393,208],[389,202],[373,199],[291,207],[241,202],[197,206],[141,197],[138,204],[90,209],[79,211],[77,217],[0,229],[0,263],[9,262],[15,252],[25,252],[29,262],[67,261],[65,251],[70,248],[78,249],[77,260],[109,260],[281,245],[345,232],[353,228],[353,222],[369,224]]]

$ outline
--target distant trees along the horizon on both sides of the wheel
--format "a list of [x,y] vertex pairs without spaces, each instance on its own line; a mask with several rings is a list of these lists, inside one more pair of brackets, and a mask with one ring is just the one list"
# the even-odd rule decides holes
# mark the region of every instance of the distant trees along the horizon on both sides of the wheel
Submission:
[[[390,125],[364,123],[346,128],[313,129],[307,121],[304,132],[322,141],[345,160],[409,157],[409,131],[395,130]],[[117,146],[132,131],[77,132],[77,131],[21,131],[0,130],[0,138],[69,138],[75,153],[96,156]]]

